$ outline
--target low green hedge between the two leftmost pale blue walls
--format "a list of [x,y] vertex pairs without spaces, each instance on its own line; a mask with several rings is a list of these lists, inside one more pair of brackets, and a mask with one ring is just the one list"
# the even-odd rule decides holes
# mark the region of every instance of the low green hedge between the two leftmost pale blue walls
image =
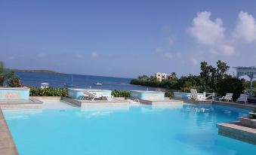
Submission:
[[66,88],[30,88],[30,96],[67,96],[67,89]]

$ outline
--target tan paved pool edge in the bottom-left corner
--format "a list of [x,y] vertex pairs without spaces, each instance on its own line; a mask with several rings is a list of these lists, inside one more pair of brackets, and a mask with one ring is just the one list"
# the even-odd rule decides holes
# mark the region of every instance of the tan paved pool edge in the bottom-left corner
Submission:
[[5,155],[18,155],[17,147],[6,123],[2,108],[0,107],[0,152]]

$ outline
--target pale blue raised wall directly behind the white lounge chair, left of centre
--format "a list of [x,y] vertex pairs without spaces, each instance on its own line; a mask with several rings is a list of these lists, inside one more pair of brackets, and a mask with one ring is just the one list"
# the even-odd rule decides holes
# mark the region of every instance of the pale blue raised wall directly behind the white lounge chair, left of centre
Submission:
[[111,93],[112,93],[111,90],[69,88],[68,97],[72,99],[82,99],[82,97],[85,96],[85,91],[88,91],[91,93],[97,93],[98,95],[103,95],[103,96],[111,96]]

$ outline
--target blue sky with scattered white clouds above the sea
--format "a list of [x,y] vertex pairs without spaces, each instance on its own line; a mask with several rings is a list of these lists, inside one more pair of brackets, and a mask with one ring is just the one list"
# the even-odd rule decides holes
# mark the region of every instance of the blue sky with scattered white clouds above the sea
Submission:
[[[136,78],[256,65],[256,1],[0,0],[8,68]],[[230,74],[235,70],[230,69]]]

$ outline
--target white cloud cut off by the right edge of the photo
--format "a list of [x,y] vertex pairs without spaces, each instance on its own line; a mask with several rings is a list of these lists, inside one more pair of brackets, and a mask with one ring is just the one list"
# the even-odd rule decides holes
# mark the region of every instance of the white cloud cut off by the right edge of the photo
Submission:
[[244,11],[239,13],[234,37],[246,43],[256,41],[256,22],[251,14]]

